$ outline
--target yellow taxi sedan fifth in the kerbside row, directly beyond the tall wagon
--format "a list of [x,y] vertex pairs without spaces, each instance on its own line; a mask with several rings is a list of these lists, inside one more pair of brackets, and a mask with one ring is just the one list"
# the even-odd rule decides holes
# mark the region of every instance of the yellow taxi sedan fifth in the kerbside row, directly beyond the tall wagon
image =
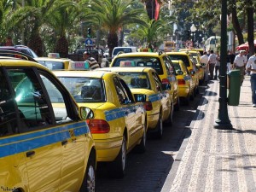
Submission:
[[194,99],[191,74],[182,60],[172,60],[172,63],[177,73],[178,96],[189,105],[190,100]]

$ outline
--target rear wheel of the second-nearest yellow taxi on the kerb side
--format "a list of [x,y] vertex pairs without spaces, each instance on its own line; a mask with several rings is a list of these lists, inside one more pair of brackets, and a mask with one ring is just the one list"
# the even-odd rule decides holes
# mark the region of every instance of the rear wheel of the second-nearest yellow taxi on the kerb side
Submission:
[[117,158],[113,161],[113,174],[114,177],[122,178],[125,176],[126,168],[126,137],[123,137],[122,146],[120,148]]

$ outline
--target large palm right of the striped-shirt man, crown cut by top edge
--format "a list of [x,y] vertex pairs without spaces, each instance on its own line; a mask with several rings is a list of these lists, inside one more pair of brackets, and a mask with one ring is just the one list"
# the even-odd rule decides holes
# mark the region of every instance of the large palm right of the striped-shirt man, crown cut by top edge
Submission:
[[143,9],[131,9],[133,0],[93,0],[90,4],[91,12],[99,20],[103,28],[108,30],[109,56],[113,48],[118,46],[118,34],[123,26],[131,23],[143,24],[141,16],[145,14]]

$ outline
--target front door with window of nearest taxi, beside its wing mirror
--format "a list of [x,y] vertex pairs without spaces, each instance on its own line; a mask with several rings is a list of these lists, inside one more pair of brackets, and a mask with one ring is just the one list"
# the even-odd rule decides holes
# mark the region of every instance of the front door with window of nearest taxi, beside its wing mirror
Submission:
[[64,97],[57,88],[57,84],[54,84],[55,80],[47,73],[40,73],[40,76],[47,92],[49,92],[49,100],[54,111],[55,121],[58,125],[62,125],[61,128],[67,133],[67,137],[63,137],[63,140],[61,140],[60,191],[75,191],[79,187],[77,181],[83,177],[84,155],[86,154],[84,134],[89,132],[89,128],[87,127],[87,130],[84,130],[82,127],[84,127],[85,123],[71,121],[65,108],[67,103],[64,102]]

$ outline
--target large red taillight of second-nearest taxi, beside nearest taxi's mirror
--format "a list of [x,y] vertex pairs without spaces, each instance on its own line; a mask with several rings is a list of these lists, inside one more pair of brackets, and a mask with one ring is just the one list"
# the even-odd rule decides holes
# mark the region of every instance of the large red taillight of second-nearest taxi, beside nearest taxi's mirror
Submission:
[[110,126],[106,120],[87,119],[86,121],[91,133],[108,133],[110,131]]

